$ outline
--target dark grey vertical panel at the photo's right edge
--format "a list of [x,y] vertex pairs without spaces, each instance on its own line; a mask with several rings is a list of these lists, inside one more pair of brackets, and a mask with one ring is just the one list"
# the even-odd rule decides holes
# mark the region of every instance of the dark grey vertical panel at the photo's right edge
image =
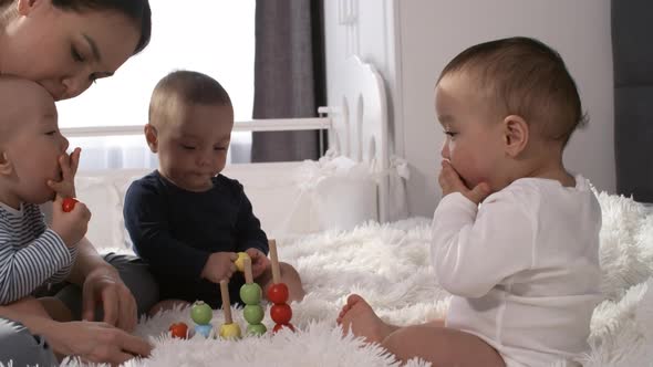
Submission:
[[653,202],[653,1],[612,0],[616,190]]

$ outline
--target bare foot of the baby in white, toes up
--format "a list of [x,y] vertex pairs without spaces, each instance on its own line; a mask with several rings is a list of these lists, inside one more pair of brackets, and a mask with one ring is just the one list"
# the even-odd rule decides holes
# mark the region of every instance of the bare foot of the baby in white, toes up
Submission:
[[381,343],[397,327],[384,323],[372,310],[370,304],[357,294],[346,298],[336,322],[344,334],[362,336],[367,343]]

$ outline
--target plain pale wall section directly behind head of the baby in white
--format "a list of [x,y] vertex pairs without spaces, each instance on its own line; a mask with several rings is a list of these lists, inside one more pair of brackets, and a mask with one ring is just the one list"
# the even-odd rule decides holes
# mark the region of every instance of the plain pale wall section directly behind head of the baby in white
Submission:
[[401,0],[396,10],[403,81],[400,124],[412,166],[413,214],[432,216],[440,197],[437,174],[444,136],[433,107],[439,71],[469,45],[512,35],[538,38],[567,62],[591,120],[572,137],[564,162],[597,188],[614,192],[609,0]]

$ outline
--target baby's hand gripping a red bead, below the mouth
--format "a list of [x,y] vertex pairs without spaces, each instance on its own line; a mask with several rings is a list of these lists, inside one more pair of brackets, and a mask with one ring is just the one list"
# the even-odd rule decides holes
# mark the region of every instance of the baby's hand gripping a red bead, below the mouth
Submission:
[[64,212],[62,203],[63,198],[58,195],[52,208],[51,228],[66,247],[72,248],[86,234],[91,211],[83,202],[75,202],[71,211]]

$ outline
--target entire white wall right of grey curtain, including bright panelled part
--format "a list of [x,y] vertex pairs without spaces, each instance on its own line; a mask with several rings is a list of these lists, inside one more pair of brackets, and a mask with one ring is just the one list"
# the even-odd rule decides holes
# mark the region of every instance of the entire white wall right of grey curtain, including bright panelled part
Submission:
[[[350,24],[339,23],[343,9],[353,14]],[[411,165],[411,214],[432,216],[440,198],[444,136],[433,106],[440,70],[465,48],[512,35],[538,38],[566,60],[591,120],[572,137],[564,161],[614,192],[610,0],[326,0],[324,10],[330,103],[338,103],[331,96],[348,54],[381,72],[394,151]]]

